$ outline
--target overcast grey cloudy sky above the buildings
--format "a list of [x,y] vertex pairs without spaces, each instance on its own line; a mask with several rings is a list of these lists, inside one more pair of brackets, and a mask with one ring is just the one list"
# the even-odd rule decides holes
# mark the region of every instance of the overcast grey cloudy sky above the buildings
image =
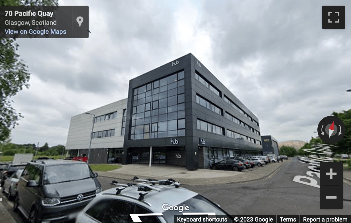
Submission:
[[[88,39],[19,39],[31,87],[14,143],[66,144],[72,116],[127,97],[128,80],[193,53],[278,141],[317,136],[351,108],[351,2],[322,0],[59,1],[88,5]],[[322,29],[345,5],[346,28]]]

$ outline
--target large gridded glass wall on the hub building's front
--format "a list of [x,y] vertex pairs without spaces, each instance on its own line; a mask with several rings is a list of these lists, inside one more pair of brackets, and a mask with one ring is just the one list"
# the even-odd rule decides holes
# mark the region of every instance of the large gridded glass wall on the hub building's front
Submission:
[[129,139],[185,136],[184,71],[134,88]]

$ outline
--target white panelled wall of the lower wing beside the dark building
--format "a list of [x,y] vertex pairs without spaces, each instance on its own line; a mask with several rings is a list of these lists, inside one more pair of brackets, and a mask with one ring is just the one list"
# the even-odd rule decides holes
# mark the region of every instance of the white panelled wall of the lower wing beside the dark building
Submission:
[[[100,116],[117,111],[117,118],[96,122],[93,132],[115,129],[113,137],[94,138],[92,139],[91,148],[117,148],[123,147],[124,136],[121,136],[123,109],[127,108],[127,98],[114,103],[87,111],[88,113]],[[88,149],[90,135],[93,125],[93,116],[90,114],[79,114],[71,118],[69,124],[66,149]]]

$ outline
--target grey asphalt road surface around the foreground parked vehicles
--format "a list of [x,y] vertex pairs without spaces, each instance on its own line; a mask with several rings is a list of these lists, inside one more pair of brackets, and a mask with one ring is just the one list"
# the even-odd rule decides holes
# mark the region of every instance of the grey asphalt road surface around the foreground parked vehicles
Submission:
[[[307,176],[306,163],[299,163],[297,158],[282,166],[273,176],[251,183],[231,183],[210,186],[188,186],[185,188],[198,192],[218,203],[233,215],[348,215],[351,210],[351,186],[344,183],[343,209],[319,209],[319,188],[293,182],[294,176]],[[264,168],[264,167],[263,167]],[[318,181],[319,178],[313,177]],[[98,177],[102,190],[111,188],[112,178]],[[176,179],[177,180],[177,179]],[[119,183],[128,181],[118,180]],[[181,183],[181,182],[180,182]],[[13,212],[13,203],[3,199],[4,205],[16,222],[25,222],[24,217]],[[0,222],[1,218],[0,218]]]

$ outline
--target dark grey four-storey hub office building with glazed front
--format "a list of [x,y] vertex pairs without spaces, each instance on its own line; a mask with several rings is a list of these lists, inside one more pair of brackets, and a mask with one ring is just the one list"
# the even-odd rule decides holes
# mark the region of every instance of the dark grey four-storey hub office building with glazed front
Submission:
[[114,136],[124,137],[122,164],[197,170],[234,156],[262,154],[258,118],[192,54],[131,79],[126,100],[119,108],[126,109],[125,123],[115,129],[124,136]]

